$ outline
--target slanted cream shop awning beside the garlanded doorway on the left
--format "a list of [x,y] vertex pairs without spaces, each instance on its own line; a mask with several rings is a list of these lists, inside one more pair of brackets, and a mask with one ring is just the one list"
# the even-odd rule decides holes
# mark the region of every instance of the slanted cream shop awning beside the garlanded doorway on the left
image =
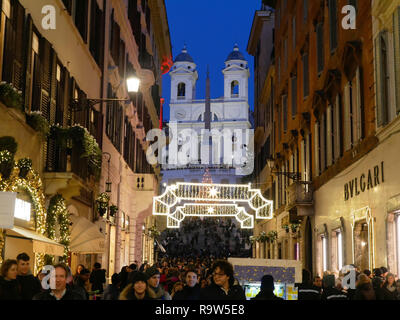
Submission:
[[41,234],[32,230],[24,229],[14,226],[12,229],[7,230],[7,236],[22,237],[32,241],[33,252],[45,253],[54,256],[64,255],[64,246],[42,236]]

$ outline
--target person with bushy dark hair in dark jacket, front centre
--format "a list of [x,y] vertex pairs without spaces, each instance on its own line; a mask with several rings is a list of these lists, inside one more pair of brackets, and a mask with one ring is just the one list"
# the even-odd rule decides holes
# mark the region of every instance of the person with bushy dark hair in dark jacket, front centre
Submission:
[[246,300],[243,288],[235,284],[233,266],[217,260],[212,268],[211,285],[200,292],[200,300]]

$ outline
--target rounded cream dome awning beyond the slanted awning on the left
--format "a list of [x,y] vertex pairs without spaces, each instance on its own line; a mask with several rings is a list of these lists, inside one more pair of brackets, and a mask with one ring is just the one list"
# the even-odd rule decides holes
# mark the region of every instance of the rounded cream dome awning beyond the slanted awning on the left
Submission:
[[70,250],[79,254],[104,252],[104,235],[88,219],[70,216],[72,221]]

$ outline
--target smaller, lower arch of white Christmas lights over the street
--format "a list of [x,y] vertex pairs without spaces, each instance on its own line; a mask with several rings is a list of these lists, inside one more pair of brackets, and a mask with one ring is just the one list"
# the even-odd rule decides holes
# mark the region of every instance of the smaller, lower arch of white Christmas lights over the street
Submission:
[[254,217],[236,204],[184,204],[168,216],[167,227],[179,228],[185,217],[235,217],[243,229],[254,228]]

